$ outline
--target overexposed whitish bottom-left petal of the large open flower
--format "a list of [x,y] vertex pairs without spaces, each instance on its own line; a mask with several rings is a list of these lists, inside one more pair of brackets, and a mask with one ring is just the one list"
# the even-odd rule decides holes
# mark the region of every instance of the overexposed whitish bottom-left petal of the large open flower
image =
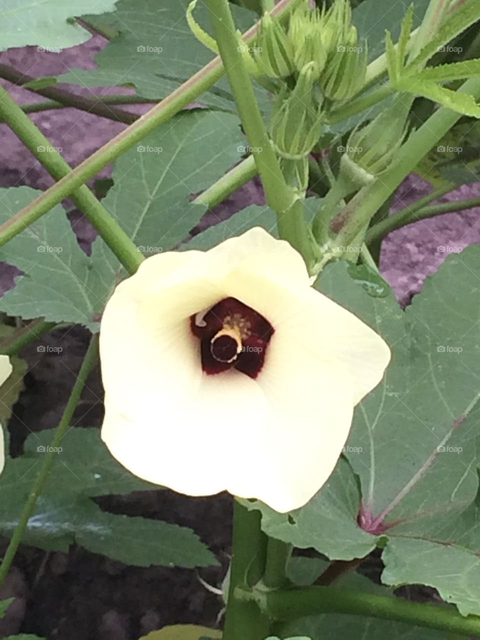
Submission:
[[255,381],[232,370],[207,376],[177,403],[145,404],[134,420],[120,415],[106,398],[102,438],[132,473],[188,495],[228,489],[239,468],[248,476],[246,454],[264,452],[261,424],[269,405]]

